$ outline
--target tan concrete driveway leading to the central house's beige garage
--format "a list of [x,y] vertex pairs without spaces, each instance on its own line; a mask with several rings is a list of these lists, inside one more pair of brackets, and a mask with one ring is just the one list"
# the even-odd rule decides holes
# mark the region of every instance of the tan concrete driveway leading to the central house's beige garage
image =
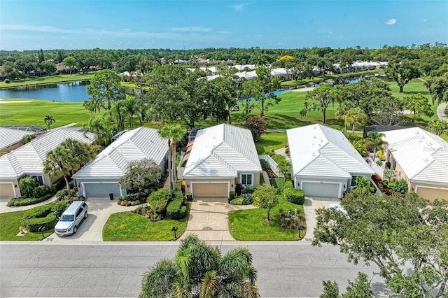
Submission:
[[235,241],[229,232],[229,213],[251,208],[254,207],[229,204],[228,199],[194,199],[186,231],[180,239],[188,234],[196,234],[205,241]]

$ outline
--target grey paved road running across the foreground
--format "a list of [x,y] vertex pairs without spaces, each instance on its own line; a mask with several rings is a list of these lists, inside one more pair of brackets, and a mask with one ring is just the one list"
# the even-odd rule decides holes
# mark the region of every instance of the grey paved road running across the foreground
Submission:
[[[69,243],[69,241],[66,241]],[[10,243],[0,245],[0,297],[137,297],[141,276],[172,258],[176,243]],[[337,247],[238,243],[253,253],[262,297],[318,297],[323,280],[342,289],[358,271]],[[235,248],[221,246],[223,253]]]

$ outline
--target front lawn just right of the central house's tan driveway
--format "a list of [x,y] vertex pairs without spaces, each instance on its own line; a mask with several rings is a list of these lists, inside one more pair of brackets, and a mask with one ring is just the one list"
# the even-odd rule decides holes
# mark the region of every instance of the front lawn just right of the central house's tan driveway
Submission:
[[[281,241],[281,240],[298,240],[299,234],[295,229],[282,229],[280,227],[279,209],[283,211],[290,210],[294,213],[302,214],[304,211],[302,205],[291,204],[281,197],[280,205],[271,210],[269,222],[265,221],[267,212],[265,209],[256,208],[250,210],[232,211],[229,214],[230,234],[240,241]],[[306,229],[301,234],[304,236]]]

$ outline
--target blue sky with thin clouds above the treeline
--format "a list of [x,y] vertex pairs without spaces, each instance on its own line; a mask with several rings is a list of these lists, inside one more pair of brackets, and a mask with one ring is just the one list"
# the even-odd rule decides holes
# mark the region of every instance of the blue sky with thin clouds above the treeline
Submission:
[[0,50],[448,43],[448,1],[0,0]]

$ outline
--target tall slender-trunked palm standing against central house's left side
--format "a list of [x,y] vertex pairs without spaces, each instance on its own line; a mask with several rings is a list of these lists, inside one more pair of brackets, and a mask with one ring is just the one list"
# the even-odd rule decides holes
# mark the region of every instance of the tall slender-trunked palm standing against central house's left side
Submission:
[[176,185],[176,143],[181,141],[183,136],[186,134],[186,129],[182,128],[181,125],[173,125],[166,123],[159,130],[160,136],[168,140],[168,179],[169,179],[169,190],[172,192],[174,190],[174,185]]

